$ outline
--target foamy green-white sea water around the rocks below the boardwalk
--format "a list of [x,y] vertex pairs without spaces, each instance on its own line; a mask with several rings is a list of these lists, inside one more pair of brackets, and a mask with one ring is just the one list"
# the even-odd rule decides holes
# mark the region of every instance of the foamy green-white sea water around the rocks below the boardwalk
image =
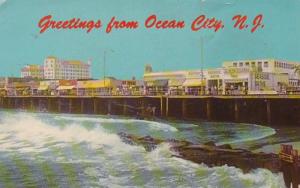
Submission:
[[242,143],[273,135],[249,124],[150,122],[0,111],[0,187],[284,187],[281,174],[209,168],[123,143],[118,132],[192,142]]

